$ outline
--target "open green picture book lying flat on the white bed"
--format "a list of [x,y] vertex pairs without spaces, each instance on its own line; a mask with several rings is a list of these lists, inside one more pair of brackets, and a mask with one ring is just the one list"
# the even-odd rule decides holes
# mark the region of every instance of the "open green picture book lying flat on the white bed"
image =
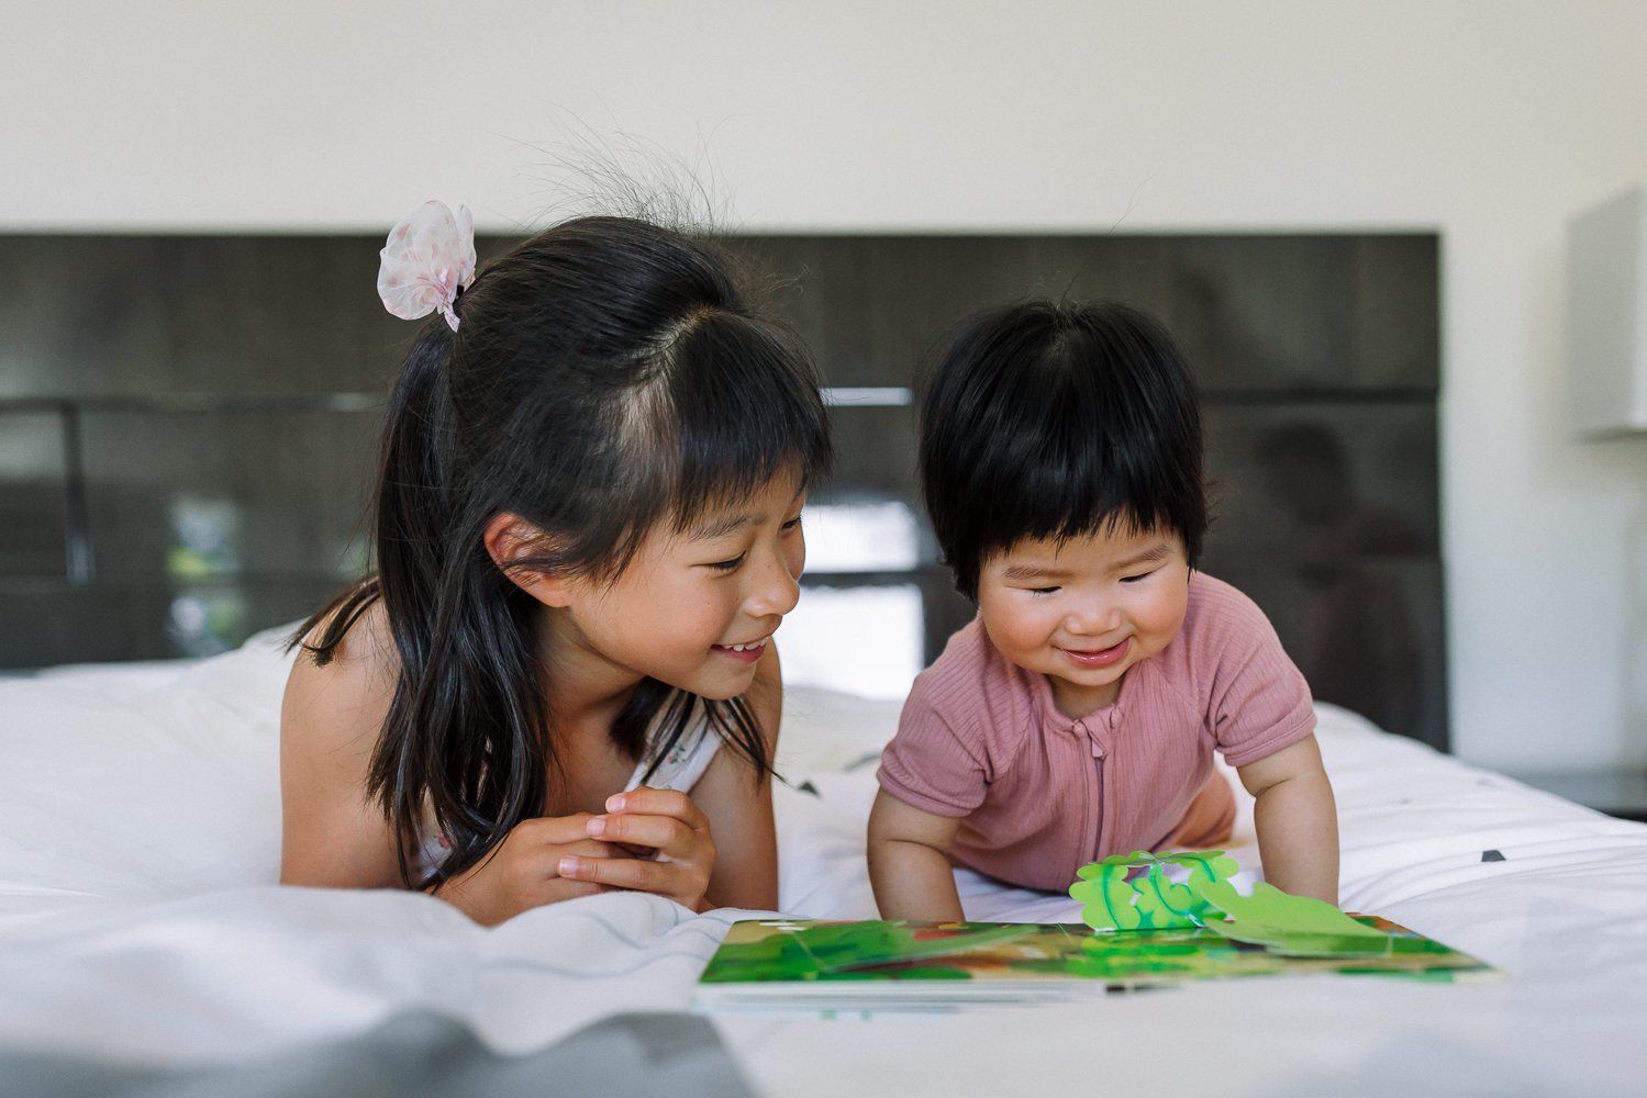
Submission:
[[[1407,979],[1491,978],[1495,970],[1388,920],[1319,943],[1240,940],[1227,927],[1103,932],[1084,924],[744,920],[698,983],[702,1009],[949,1011],[1298,973]],[[1252,937],[1252,935],[1248,935]]]

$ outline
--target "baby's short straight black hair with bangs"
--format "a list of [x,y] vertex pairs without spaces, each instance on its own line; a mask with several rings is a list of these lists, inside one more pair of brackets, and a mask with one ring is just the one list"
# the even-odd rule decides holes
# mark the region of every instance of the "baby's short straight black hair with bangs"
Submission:
[[1173,337],[1113,301],[975,313],[921,403],[921,489],[955,588],[1023,538],[1207,528],[1201,403]]

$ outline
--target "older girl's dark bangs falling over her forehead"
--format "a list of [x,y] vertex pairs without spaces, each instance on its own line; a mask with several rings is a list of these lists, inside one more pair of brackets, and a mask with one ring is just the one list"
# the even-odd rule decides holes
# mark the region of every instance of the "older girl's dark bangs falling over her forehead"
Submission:
[[828,413],[805,351],[787,333],[710,313],[675,341],[669,359],[677,528],[774,476],[799,472],[805,487],[828,474]]

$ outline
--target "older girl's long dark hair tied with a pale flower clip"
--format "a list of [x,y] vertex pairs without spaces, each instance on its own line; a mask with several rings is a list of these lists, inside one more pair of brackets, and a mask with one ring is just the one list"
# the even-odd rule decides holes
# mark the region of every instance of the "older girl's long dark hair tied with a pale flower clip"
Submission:
[[[422,887],[542,815],[555,762],[540,606],[488,555],[489,520],[514,512],[548,533],[517,568],[611,579],[659,522],[687,530],[772,476],[815,482],[830,463],[805,351],[751,311],[702,240],[568,221],[481,270],[456,314],[456,333],[440,314],[423,324],[389,400],[377,573],[298,634],[318,630],[303,647],[326,663],[382,599],[400,677],[367,793],[395,825],[407,884],[425,813],[451,841]],[[771,769],[743,698],[651,678],[613,739],[656,765],[698,705],[756,775]]]

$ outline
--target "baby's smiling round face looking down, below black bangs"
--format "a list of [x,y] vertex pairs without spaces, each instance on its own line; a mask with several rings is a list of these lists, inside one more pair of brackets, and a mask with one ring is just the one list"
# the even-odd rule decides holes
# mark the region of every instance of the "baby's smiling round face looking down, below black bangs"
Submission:
[[1115,701],[1127,668],[1178,635],[1187,604],[1184,542],[1159,530],[1024,538],[978,573],[990,640],[1046,675],[1066,716]]

